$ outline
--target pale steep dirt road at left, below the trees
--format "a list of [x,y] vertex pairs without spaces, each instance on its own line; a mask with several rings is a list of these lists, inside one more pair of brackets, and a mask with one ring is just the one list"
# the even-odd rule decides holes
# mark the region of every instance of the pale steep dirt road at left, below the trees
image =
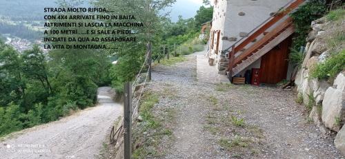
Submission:
[[0,141],[0,158],[96,158],[109,128],[123,112],[110,98],[110,87],[98,92],[97,106]]

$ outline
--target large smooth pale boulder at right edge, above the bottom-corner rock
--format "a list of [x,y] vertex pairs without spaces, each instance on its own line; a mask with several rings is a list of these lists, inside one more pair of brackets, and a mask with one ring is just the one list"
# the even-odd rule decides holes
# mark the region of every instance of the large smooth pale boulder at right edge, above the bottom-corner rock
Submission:
[[[329,87],[322,102],[322,121],[334,131],[339,131],[341,121],[345,120],[345,72],[335,78],[333,87]],[[344,141],[345,142],[345,141]]]

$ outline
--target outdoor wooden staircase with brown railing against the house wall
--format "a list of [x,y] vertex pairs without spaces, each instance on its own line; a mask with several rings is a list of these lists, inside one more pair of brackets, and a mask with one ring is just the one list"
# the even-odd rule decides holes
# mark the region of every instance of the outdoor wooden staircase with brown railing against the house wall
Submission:
[[[284,8],[281,9],[282,11],[278,12],[274,17],[266,20],[262,25],[259,25],[250,32],[246,39],[241,39],[228,48],[228,50],[231,49],[230,52],[226,53],[229,59],[227,71],[230,81],[233,76],[242,72],[242,70],[246,69],[246,67],[257,61],[260,57],[264,56],[264,54],[272,50],[273,47],[282,43],[282,41],[295,32],[293,20],[288,17],[288,14],[302,3],[304,3],[304,0],[295,0],[287,6],[284,6]],[[269,28],[273,29],[268,31]],[[244,49],[255,39],[257,39],[257,41],[253,45]]]

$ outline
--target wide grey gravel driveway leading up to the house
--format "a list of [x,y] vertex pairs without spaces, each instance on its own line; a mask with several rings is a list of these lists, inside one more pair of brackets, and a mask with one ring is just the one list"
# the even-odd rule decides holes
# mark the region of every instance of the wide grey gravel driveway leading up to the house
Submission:
[[187,59],[153,69],[148,89],[161,95],[152,112],[174,112],[163,121],[173,139],[148,158],[342,158],[293,91],[220,83],[203,52]]

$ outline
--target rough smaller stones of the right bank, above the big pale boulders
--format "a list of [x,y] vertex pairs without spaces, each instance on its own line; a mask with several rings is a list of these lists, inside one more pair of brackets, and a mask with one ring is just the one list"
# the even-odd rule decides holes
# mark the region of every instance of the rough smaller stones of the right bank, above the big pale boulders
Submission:
[[308,35],[306,41],[306,55],[302,63],[302,68],[296,76],[295,84],[299,95],[303,97],[304,105],[308,105],[310,99],[315,100],[317,105],[322,105],[326,90],[331,84],[326,81],[319,81],[310,78],[310,72],[318,64],[328,58],[326,39],[324,38],[325,30],[328,28],[328,22],[325,18],[317,19],[312,22],[313,31]]

